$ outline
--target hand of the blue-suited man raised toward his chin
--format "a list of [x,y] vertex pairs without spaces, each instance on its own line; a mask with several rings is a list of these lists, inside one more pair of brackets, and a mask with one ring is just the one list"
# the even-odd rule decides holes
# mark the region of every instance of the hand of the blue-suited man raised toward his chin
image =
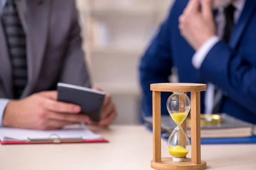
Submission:
[[197,51],[204,42],[216,34],[212,0],[190,0],[179,17],[179,29],[181,35]]

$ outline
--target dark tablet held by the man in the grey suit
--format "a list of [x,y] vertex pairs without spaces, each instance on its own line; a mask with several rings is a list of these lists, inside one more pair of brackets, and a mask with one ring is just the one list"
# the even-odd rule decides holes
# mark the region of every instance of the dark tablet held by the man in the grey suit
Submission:
[[81,114],[86,114],[94,122],[99,122],[105,93],[77,85],[58,83],[58,101],[81,106]]

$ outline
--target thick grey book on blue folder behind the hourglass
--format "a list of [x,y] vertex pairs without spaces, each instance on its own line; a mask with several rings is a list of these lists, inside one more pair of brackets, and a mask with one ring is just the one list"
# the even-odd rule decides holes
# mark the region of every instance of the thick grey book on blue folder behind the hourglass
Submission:
[[[240,138],[256,135],[253,124],[236,119],[226,113],[221,114],[220,125],[201,126],[201,138]],[[144,118],[147,125],[152,126],[152,116]],[[171,116],[161,116],[161,128],[168,136],[177,125]],[[191,137],[191,130],[187,125],[187,135]]]

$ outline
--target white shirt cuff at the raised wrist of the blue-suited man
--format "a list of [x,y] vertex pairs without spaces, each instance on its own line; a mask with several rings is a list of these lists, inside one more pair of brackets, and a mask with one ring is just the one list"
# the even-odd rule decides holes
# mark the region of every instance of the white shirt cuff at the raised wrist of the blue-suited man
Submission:
[[220,41],[220,38],[216,35],[210,37],[204,44],[195,52],[192,57],[192,65],[196,69],[200,69],[204,61],[204,58],[207,56],[212,47]]

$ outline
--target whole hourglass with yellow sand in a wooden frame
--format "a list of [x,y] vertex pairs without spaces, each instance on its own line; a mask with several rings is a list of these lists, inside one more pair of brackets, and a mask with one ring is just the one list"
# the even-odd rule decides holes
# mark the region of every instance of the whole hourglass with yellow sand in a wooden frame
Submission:
[[[200,91],[205,84],[159,83],[151,84],[153,102],[153,160],[151,167],[157,170],[204,170],[201,160]],[[161,158],[161,92],[173,92],[166,102],[167,110],[177,127],[167,141],[172,157]],[[191,92],[191,98],[186,95]],[[191,110],[191,111],[190,111]],[[191,144],[186,135],[186,117],[191,114]],[[187,158],[191,147],[191,158]]]

